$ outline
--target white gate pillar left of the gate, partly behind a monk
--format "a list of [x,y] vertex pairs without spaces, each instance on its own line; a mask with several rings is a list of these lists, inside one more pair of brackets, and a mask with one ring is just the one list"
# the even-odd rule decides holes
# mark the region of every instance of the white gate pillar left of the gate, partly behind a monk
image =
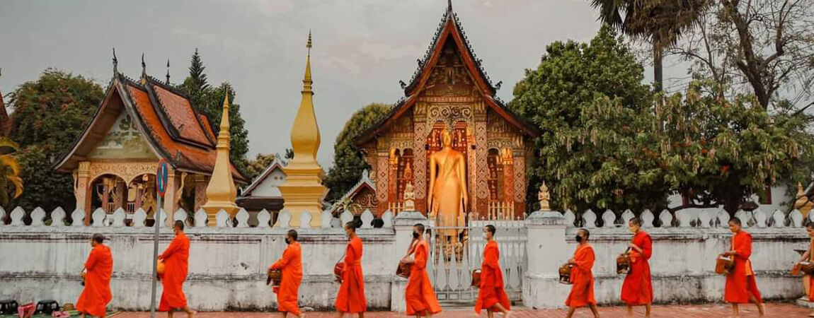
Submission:
[[[418,211],[402,211],[398,216],[393,218],[393,229],[396,231],[396,250],[393,255],[396,259],[392,259],[389,264],[397,264],[402,256],[407,253],[409,243],[413,241],[413,225],[424,224],[426,229],[429,229],[429,222],[421,212]],[[407,280],[405,278],[397,277],[393,273],[393,282],[390,285],[390,310],[391,311],[405,311],[405,288],[407,287]]]

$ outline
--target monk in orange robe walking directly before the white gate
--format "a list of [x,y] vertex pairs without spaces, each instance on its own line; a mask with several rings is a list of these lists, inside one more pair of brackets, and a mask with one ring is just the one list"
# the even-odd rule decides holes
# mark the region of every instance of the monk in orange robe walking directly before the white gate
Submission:
[[501,269],[501,252],[497,249],[495,242],[495,226],[492,224],[484,227],[484,261],[480,265],[480,288],[478,291],[478,301],[475,302],[475,312],[480,315],[480,310],[486,308],[489,318],[494,317],[494,312],[503,313],[505,318],[511,315],[509,296],[503,290],[503,270]]

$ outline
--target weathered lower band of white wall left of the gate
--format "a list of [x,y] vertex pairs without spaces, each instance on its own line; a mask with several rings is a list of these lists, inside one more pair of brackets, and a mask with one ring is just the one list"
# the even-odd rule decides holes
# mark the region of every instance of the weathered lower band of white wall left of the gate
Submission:
[[[60,304],[76,303],[82,286],[78,277],[2,277],[2,297],[18,302],[54,299]],[[49,288],[42,288],[49,286]],[[390,310],[391,282],[385,277],[365,277],[365,297],[369,310]],[[149,311],[151,281],[148,277],[113,277],[110,306],[123,311]],[[300,307],[317,311],[335,308],[339,283],[333,277],[304,277],[300,285]],[[156,306],[161,284],[156,289]],[[277,295],[265,285],[265,277],[212,279],[190,277],[184,284],[190,307],[197,311],[274,311]],[[404,305],[402,304],[402,307]]]

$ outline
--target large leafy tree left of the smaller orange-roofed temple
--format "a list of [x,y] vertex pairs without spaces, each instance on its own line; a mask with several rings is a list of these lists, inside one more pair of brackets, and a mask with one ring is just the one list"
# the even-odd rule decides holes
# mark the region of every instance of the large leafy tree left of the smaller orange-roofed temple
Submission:
[[102,87],[82,76],[46,69],[11,93],[10,138],[20,145],[25,192],[15,204],[50,211],[74,203],[71,176],[52,164],[69,150],[102,102]]

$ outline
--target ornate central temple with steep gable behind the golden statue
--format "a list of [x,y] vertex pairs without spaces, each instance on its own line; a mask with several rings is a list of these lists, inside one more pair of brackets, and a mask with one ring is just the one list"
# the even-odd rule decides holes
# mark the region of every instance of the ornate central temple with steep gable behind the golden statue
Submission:
[[484,72],[451,3],[401,86],[392,111],[355,139],[371,167],[376,214],[398,213],[414,188],[416,210],[429,216],[523,216],[529,138],[539,130],[497,98],[501,83]]

